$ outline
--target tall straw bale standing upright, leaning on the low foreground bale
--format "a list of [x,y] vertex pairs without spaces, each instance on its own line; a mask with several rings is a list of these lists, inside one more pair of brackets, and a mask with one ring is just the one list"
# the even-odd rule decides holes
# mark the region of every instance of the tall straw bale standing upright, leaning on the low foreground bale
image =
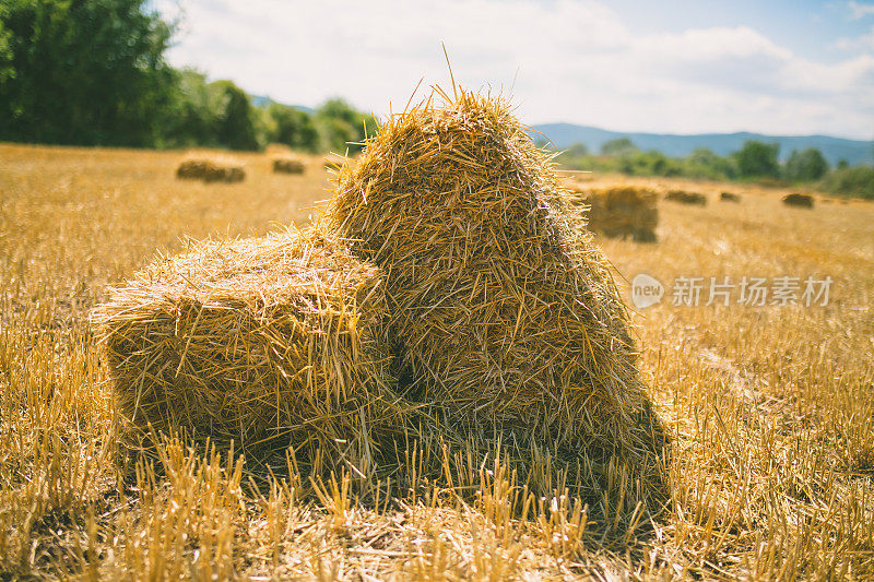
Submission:
[[506,103],[446,98],[382,124],[329,212],[386,274],[410,397],[516,442],[647,449],[626,310],[553,165]]

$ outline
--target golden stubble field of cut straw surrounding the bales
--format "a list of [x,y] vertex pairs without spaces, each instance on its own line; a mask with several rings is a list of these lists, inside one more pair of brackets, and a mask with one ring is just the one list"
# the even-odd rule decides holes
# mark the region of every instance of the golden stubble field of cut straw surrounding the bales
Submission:
[[[308,483],[290,467],[264,480],[257,460],[177,441],[130,463],[87,320],[106,286],[189,237],[303,224],[330,197],[321,158],[290,176],[268,155],[235,155],[244,182],[204,185],[175,178],[181,157],[0,144],[0,579],[874,577],[874,204],[583,182],[709,199],[660,202],[657,244],[597,239],[622,286],[647,273],[669,287],[633,320],[673,441],[670,502],[628,524],[623,512],[643,512],[610,492],[598,514],[615,521],[560,490],[522,509],[512,467],[491,462],[472,463],[472,497],[423,486],[367,503],[342,477]],[[719,202],[725,190],[741,202]],[[826,306],[749,307],[737,289],[706,306],[705,285],[701,305],[675,307],[680,276],[834,282]]]

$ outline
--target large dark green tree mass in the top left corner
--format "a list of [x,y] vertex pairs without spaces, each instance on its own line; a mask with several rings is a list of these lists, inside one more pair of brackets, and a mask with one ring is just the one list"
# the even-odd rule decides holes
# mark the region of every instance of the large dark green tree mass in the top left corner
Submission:
[[151,145],[169,115],[174,26],[145,0],[0,2],[0,139]]

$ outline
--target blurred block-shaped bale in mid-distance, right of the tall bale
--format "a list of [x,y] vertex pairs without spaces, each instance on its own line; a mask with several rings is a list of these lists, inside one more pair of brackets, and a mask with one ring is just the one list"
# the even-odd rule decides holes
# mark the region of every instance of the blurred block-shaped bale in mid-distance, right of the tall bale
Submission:
[[659,195],[652,190],[617,186],[599,190],[571,187],[586,213],[589,230],[611,238],[631,237],[636,242],[656,242]]

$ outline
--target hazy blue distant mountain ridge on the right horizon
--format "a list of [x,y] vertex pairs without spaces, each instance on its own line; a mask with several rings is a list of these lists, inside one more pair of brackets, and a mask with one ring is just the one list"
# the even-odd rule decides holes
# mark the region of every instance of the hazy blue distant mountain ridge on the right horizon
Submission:
[[601,144],[616,138],[628,138],[640,150],[659,150],[671,157],[683,157],[696,147],[707,147],[719,155],[728,155],[743,147],[747,140],[780,144],[780,159],[786,161],[792,150],[816,147],[832,166],[840,159],[850,165],[871,164],[874,162],[874,142],[845,140],[829,135],[779,136],[759,133],[701,133],[698,135],[674,135],[670,133],[623,133],[574,123],[545,123],[532,128],[534,139],[536,132],[543,133],[556,147],[564,150],[575,143],[583,143],[593,153],[598,153]]

